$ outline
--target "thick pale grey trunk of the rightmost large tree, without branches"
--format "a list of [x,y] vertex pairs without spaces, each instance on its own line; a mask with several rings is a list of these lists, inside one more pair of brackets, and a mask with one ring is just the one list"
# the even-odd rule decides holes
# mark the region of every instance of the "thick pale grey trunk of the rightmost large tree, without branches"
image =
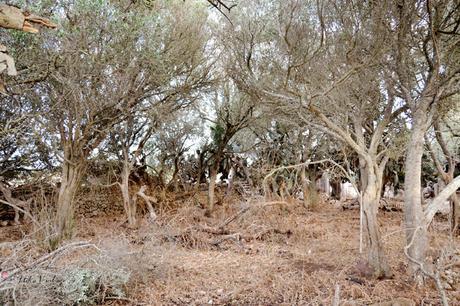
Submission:
[[419,264],[425,262],[428,247],[426,222],[422,208],[421,177],[424,135],[428,126],[427,114],[414,113],[411,137],[406,151],[404,178],[404,222],[406,248],[411,274],[421,282]]

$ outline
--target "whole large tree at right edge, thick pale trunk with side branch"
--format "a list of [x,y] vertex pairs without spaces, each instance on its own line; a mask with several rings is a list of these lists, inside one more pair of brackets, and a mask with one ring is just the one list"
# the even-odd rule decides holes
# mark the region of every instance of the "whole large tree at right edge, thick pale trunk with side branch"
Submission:
[[[427,219],[450,190],[460,186],[454,179],[439,198],[424,210],[421,169],[425,134],[440,105],[460,90],[458,1],[404,1],[388,12],[393,35],[390,69],[398,95],[410,109],[411,133],[405,159],[405,226],[407,255],[412,273],[425,264],[428,248]],[[449,195],[448,195],[449,196]],[[445,199],[444,199],[445,200]],[[418,274],[420,275],[420,274]],[[419,278],[420,280],[420,278]]]

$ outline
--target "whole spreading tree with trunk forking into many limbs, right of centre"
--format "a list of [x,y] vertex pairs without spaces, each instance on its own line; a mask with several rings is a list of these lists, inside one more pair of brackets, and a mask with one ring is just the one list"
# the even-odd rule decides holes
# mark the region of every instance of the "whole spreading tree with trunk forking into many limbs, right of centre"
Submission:
[[[368,259],[389,276],[377,222],[383,171],[406,110],[383,67],[387,3],[258,2],[224,38],[241,90],[328,133],[360,159]],[[249,16],[249,18],[248,18]],[[236,23],[236,21],[235,21]]]

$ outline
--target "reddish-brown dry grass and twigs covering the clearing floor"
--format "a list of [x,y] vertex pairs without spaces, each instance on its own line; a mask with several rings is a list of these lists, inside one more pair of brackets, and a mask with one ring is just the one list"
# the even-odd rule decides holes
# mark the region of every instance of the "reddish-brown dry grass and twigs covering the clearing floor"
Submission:
[[[143,221],[137,230],[121,226],[121,216],[82,218],[75,240],[92,241],[127,267],[129,298],[146,305],[331,305],[337,285],[341,305],[397,297],[439,305],[430,281],[416,288],[407,275],[401,212],[380,213],[394,277],[377,280],[366,275],[365,255],[359,254],[358,210],[343,211],[331,203],[314,211],[296,203],[253,203],[219,228],[244,205],[218,206],[209,217],[191,202],[183,203],[154,223]],[[436,221],[431,239],[440,249],[460,245],[458,239],[449,241],[445,220]],[[430,255],[440,254],[433,249]],[[458,280],[452,289],[450,301],[460,305]]]

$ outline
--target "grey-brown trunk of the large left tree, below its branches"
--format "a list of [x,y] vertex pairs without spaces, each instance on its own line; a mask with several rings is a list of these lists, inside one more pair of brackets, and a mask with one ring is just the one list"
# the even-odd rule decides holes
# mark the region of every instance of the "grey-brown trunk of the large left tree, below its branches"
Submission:
[[59,239],[72,233],[75,210],[73,202],[86,166],[83,158],[71,159],[70,154],[66,156],[69,158],[66,158],[62,165],[61,186],[56,205],[56,234]]

